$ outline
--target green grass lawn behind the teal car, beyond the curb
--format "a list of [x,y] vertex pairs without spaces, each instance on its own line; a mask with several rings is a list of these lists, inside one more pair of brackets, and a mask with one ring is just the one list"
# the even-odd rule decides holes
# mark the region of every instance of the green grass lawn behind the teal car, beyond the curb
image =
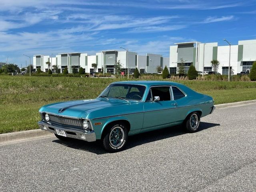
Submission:
[[[120,80],[0,75],[0,134],[37,129],[37,122],[40,120],[38,110],[41,106],[53,102],[96,98],[108,84]],[[215,104],[256,99],[255,82],[176,82],[212,96]]]

